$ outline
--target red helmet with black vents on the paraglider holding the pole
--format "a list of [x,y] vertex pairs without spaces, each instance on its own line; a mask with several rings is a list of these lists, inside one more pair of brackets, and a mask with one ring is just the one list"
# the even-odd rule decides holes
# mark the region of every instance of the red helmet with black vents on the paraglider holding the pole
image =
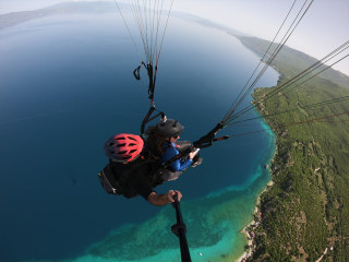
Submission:
[[143,150],[143,139],[140,135],[116,134],[105,143],[106,155],[116,162],[132,162]]

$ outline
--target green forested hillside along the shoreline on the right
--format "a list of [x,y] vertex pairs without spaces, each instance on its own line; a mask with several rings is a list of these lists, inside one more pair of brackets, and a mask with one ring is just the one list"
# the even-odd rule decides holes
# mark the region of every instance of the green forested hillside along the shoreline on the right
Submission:
[[[260,56],[269,44],[239,38]],[[278,86],[315,61],[285,47],[272,64],[281,75]],[[277,136],[277,151],[270,167],[275,183],[261,195],[261,225],[252,228],[251,261],[316,261],[324,253],[322,261],[349,261],[349,102],[304,108],[349,95],[348,76],[325,72],[266,100],[276,87],[254,92],[262,100],[257,109]],[[318,120],[304,122],[311,119]]]

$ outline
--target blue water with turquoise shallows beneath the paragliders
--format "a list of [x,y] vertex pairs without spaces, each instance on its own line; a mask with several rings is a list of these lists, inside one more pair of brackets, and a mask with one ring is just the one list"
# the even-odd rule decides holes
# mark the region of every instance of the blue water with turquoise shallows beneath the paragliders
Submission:
[[[43,16],[0,31],[0,261],[180,261],[174,209],[107,194],[97,178],[108,160],[104,142],[139,134],[149,108],[146,72],[140,81],[132,74],[141,62],[117,11]],[[222,119],[258,62],[227,32],[172,16],[155,106],[184,126],[181,140],[195,141]],[[278,78],[269,69],[256,87]],[[256,119],[218,136],[263,129]],[[156,188],[183,194],[193,261],[234,261],[244,252],[241,229],[269,181],[274,151],[268,130],[231,136],[202,148],[201,166]]]

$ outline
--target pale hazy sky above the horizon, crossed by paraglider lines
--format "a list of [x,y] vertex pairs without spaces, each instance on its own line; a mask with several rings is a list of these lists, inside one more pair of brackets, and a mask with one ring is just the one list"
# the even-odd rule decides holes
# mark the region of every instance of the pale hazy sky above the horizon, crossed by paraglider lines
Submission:
[[[0,0],[0,13],[35,10],[65,1]],[[244,33],[272,40],[293,1],[174,0],[173,10],[206,17]],[[297,0],[296,9],[300,8],[304,1]],[[314,0],[287,45],[321,59],[347,40],[349,40],[349,1]],[[344,53],[349,53],[349,51]],[[349,58],[334,68],[349,75]]]

